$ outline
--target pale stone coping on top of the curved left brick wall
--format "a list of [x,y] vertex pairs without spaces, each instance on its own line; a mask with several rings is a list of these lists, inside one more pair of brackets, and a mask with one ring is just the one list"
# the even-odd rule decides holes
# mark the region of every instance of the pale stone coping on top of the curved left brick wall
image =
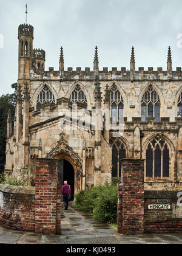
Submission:
[[22,195],[35,195],[35,187],[0,184],[0,192]]

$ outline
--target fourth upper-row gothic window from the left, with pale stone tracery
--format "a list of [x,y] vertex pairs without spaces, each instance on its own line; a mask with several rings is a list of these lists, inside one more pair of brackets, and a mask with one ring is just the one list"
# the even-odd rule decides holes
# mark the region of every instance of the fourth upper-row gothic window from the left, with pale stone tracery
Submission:
[[147,117],[155,117],[155,121],[160,122],[160,100],[152,85],[146,89],[141,100],[141,122],[146,122]]

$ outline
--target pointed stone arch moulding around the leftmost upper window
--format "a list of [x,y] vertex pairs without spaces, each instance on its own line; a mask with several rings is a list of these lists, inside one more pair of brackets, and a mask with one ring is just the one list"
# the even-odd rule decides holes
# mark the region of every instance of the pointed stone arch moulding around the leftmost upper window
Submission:
[[33,92],[33,95],[32,95],[31,105],[34,106],[35,109],[36,109],[36,102],[38,99],[38,95],[42,91],[42,89],[44,88],[45,85],[47,85],[49,87],[50,91],[52,91],[52,93],[55,97],[55,102],[58,99],[58,94],[55,91],[55,89],[53,88],[52,83],[50,83],[50,81],[41,82],[39,84],[38,88],[35,90],[35,92]]

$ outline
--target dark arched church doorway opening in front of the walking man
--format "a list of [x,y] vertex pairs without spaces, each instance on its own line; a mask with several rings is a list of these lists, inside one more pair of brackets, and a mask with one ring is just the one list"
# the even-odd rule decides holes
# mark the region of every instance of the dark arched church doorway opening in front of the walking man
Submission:
[[75,172],[72,164],[66,159],[61,159],[58,161],[58,179],[62,185],[64,185],[64,181],[70,185],[72,189],[72,195],[75,192]]

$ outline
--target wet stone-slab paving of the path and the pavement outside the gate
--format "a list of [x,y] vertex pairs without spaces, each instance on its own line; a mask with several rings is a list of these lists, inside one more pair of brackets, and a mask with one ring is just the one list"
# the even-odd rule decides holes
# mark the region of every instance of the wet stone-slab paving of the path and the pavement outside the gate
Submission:
[[[62,207],[63,208],[63,207]],[[42,235],[0,226],[1,244],[182,244],[182,234],[121,235],[115,227],[69,206],[61,210],[62,235]]]

